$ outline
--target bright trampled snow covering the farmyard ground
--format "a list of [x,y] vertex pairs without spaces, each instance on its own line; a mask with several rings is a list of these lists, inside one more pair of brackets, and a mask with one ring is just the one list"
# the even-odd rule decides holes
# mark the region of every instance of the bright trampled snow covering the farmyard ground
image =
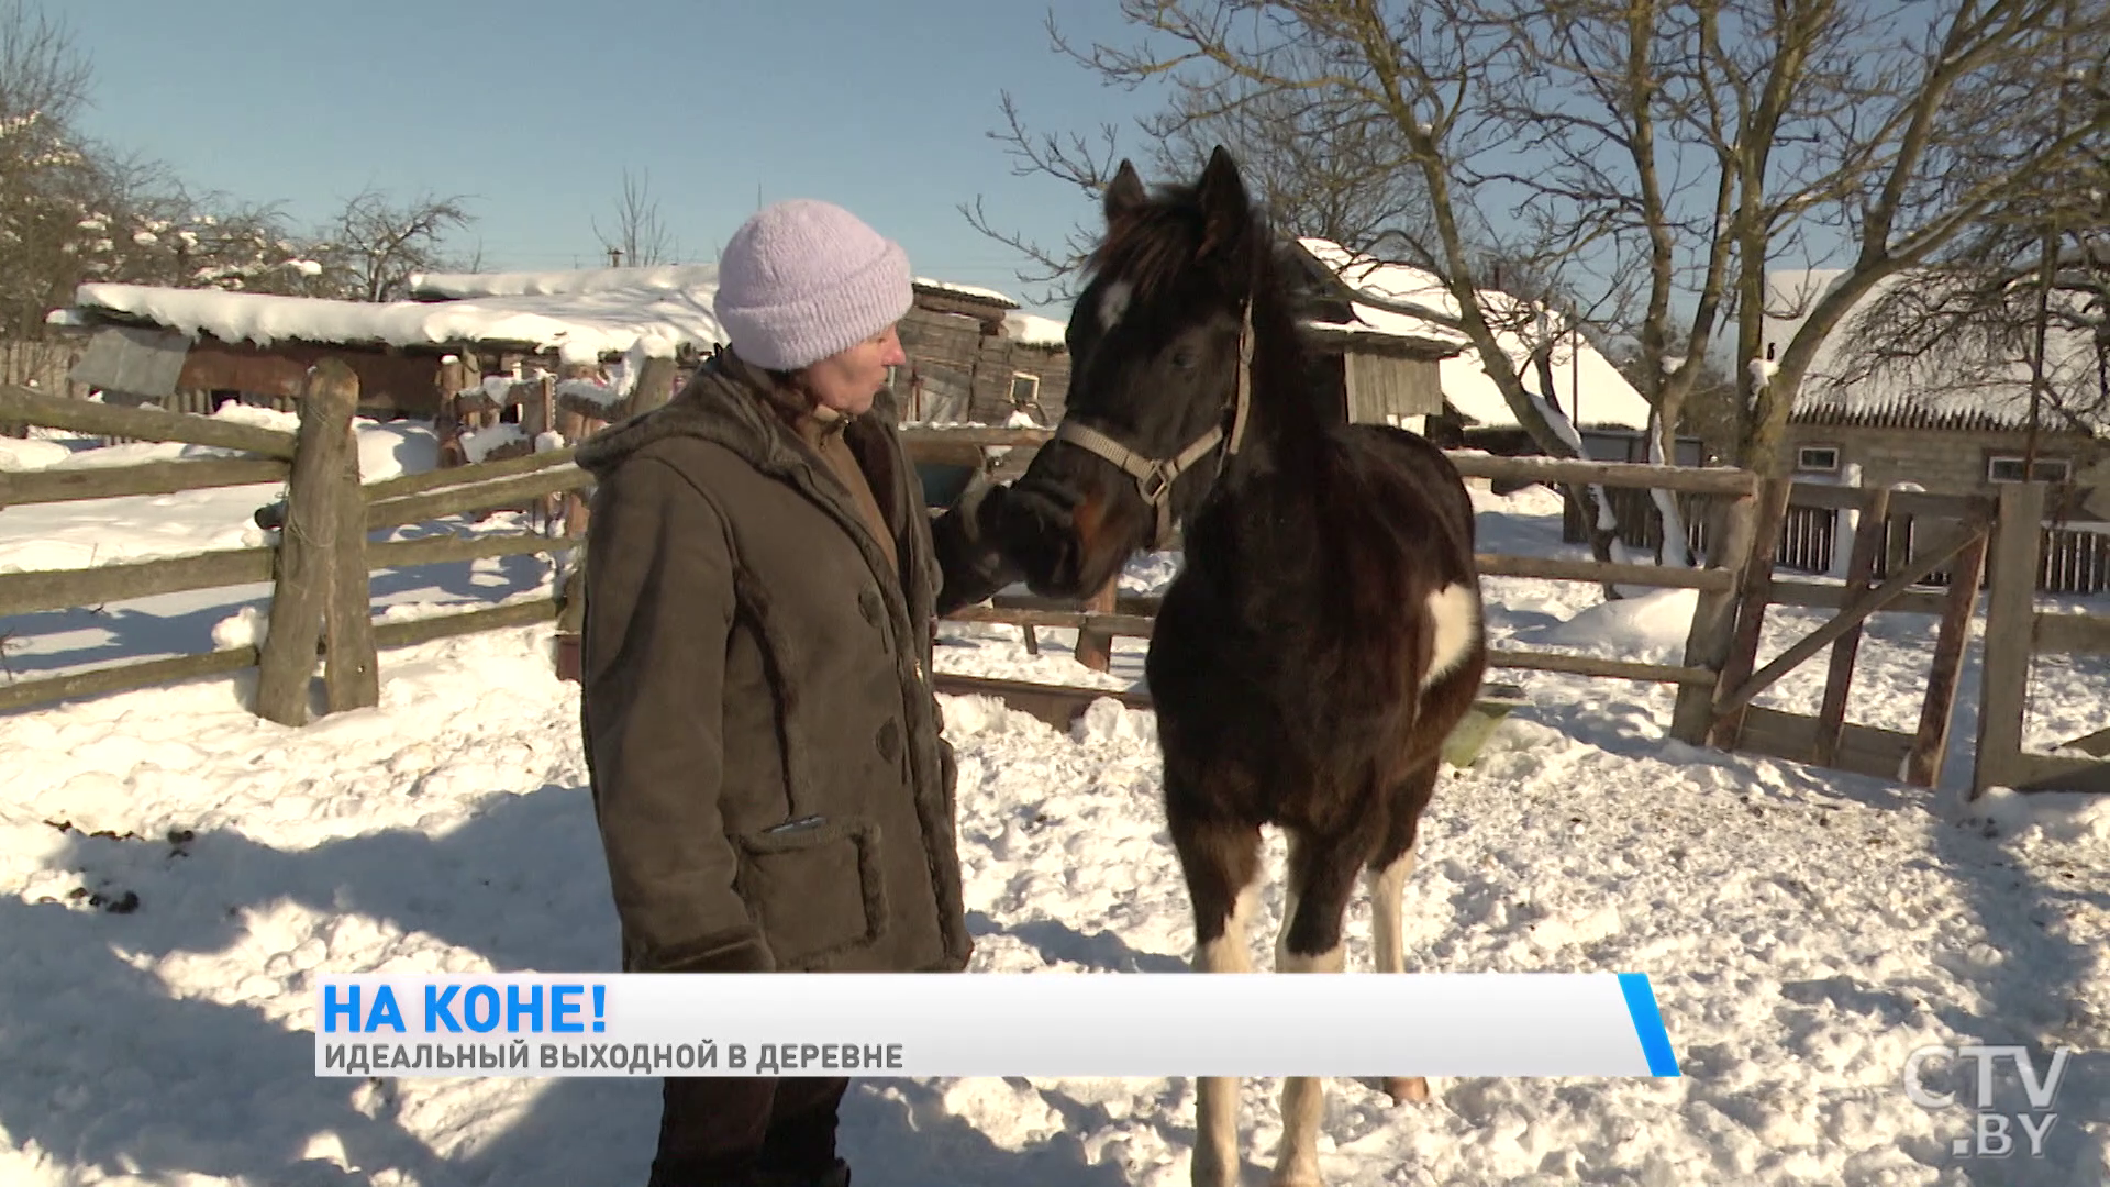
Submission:
[[[243,547],[272,494],[6,509],[0,570]],[[1490,551],[1564,551],[1542,490],[1481,496],[1481,532]],[[1158,587],[1173,564],[1139,558],[1127,585]],[[546,562],[519,558],[378,587],[430,604],[546,581]],[[1627,659],[1675,659],[1690,606],[1599,606],[1589,585],[1521,579],[1488,594],[1496,642]],[[253,604],[181,598],[4,619],[6,659],[27,678],[196,651]],[[1766,653],[1812,621],[1777,615]],[[1931,634],[1929,619],[1874,619],[1857,720],[1916,722]],[[1040,632],[1040,657],[1011,627],[947,625],[943,640],[945,670],[1089,678],[1068,632]],[[1099,682],[1131,684],[1139,659],[1123,642]],[[1973,644],[1967,691],[1975,674]],[[2110,667],[2038,676],[2034,746],[2110,724]],[[1967,809],[1969,708],[1950,786],[1920,792],[1667,741],[1667,689],[1498,678],[1530,705],[1437,794],[1407,883],[1409,967],[1648,972],[1684,1077],[1454,1079],[1418,1109],[1336,1084],[1334,1183],[2110,1181],[2110,803],[1994,794]],[[306,729],[253,718],[251,682],[0,714],[0,1183],[641,1183],[654,1081],[316,1079],[304,1029],[316,972],[614,967],[578,691],[553,676],[549,627],[386,651],[380,708]],[[1808,710],[1821,689],[1817,661],[1760,703]],[[945,718],[975,969],[1184,969],[1150,714],[1101,701],[1057,733],[945,697]],[[1262,967],[1279,906],[1270,891]],[[1367,967],[1367,940],[1357,902],[1350,967]],[[1905,1096],[1907,1052],[1971,1041],[2080,1048],[2040,1160],[1958,1157],[1971,1113]],[[1274,1090],[1247,1084],[1258,1166]],[[2026,1109],[2011,1079],[2000,1092]],[[844,1151],[859,1187],[1171,1185],[1192,1117],[1188,1081],[871,1079],[846,1105]]]

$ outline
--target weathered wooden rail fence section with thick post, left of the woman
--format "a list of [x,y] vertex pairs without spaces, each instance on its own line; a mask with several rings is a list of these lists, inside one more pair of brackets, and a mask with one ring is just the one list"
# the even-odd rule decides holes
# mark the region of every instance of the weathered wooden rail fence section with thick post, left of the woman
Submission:
[[285,479],[287,501],[260,509],[257,522],[283,528],[291,517],[300,526],[291,532],[281,530],[279,543],[266,547],[76,570],[0,572],[0,617],[272,583],[270,632],[262,648],[232,646],[19,680],[0,686],[0,710],[257,667],[255,712],[285,724],[302,724],[310,712],[308,684],[319,653],[325,667],[325,701],[338,712],[378,703],[378,648],[551,619],[563,629],[580,608],[576,572],[574,581],[546,598],[403,621],[373,619],[369,574],[376,568],[523,553],[555,555],[580,541],[576,530],[568,530],[561,536],[513,532],[369,543],[367,532],[468,511],[536,505],[576,492],[593,479],[572,465],[572,450],[561,448],[361,486],[359,458],[350,448],[357,403],[357,376],[333,363],[323,363],[310,374],[308,391],[300,399],[298,435],[0,384],[0,420],[257,454],[93,471],[0,473],[0,507]]

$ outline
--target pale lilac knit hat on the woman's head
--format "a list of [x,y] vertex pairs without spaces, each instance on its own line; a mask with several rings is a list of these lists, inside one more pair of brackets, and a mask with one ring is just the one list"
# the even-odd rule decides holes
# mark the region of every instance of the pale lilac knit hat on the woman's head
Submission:
[[812,199],[764,207],[717,260],[717,321],[757,368],[819,363],[901,321],[914,300],[901,245]]

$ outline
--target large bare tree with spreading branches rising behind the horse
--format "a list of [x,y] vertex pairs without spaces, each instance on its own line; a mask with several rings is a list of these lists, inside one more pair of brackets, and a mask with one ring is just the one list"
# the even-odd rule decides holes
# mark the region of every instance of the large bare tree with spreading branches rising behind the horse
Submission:
[[[1167,84],[1154,137],[1287,103],[1327,114],[1308,154],[1348,129],[1344,148],[1403,173],[1426,209],[1363,247],[1443,281],[1456,313],[1401,313],[1454,323],[1549,454],[1578,452],[1574,433],[1536,361],[1496,344],[1532,327],[1485,296],[1490,243],[1557,277],[1566,323],[1637,342],[1665,456],[1732,325],[1739,454],[1777,471],[1796,387],[1844,310],[2099,146],[2099,101],[2040,135],[2059,68],[2047,30],[2068,2],[2072,44],[2110,40],[2102,0],[1123,0],[1139,44],[1072,55],[1110,82]],[[1049,152],[1082,142],[1006,118],[1023,171],[1095,184]],[[1827,245],[1844,277],[1762,372],[1768,266]],[[1549,348],[1530,342],[1534,359]]]

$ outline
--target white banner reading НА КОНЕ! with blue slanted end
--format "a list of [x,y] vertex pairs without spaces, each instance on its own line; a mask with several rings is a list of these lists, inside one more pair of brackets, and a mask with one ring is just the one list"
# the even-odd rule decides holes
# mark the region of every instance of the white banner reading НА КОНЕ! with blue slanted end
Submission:
[[316,1075],[1675,1077],[1646,974],[325,974]]

